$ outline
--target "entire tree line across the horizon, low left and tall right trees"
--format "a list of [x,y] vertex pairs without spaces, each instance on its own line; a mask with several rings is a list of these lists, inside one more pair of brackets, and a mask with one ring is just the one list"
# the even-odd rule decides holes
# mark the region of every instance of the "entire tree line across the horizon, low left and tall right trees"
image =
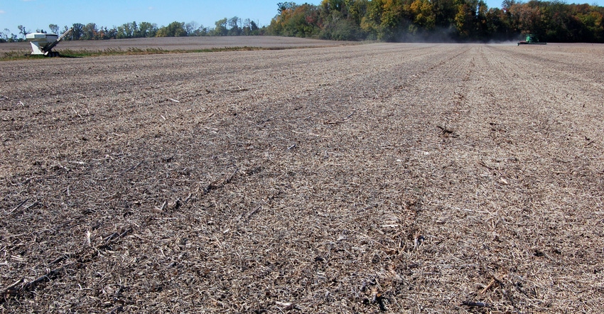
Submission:
[[[323,0],[319,5],[280,2],[269,26],[249,18],[222,18],[215,27],[174,21],[168,26],[131,22],[107,28],[75,23],[73,40],[176,36],[296,36],[330,40],[490,41],[517,40],[526,33],[542,41],[604,43],[604,7],[561,0]],[[61,33],[56,24],[51,32]],[[68,30],[63,27],[63,32]],[[23,41],[29,31],[0,32],[0,42]],[[44,30],[37,30],[45,33]]]

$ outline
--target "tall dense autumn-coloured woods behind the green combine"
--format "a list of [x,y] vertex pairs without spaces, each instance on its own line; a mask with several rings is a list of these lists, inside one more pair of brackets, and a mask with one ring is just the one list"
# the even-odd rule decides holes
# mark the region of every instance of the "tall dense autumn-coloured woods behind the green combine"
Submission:
[[281,2],[267,33],[332,40],[490,41],[533,33],[542,41],[604,43],[604,7],[560,0],[323,0]]

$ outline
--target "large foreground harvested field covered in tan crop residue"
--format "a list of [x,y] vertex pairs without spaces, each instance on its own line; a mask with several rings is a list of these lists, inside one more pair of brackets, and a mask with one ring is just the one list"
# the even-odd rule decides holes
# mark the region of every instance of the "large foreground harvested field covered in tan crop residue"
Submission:
[[2,62],[0,309],[598,313],[603,54]]

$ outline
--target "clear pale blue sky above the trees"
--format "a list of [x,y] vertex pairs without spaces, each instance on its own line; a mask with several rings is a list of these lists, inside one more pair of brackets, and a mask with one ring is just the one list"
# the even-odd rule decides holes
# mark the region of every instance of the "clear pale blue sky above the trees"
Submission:
[[[43,29],[48,24],[71,26],[73,23],[96,23],[97,26],[121,26],[132,21],[156,23],[166,26],[173,21],[195,21],[213,28],[221,18],[237,16],[249,18],[259,26],[271,23],[277,13],[278,2],[284,0],[0,0],[0,32],[8,28],[18,33],[17,26],[28,31]],[[320,4],[320,0],[294,1]],[[490,8],[500,7],[502,0],[486,0]],[[604,0],[566,1],[604,6]]]

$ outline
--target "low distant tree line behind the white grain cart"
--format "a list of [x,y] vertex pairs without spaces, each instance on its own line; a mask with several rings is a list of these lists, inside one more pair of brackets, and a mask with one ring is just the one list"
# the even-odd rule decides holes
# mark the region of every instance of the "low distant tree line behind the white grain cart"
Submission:
[[[215,22],[214,28],[205,27],[192,21],[190,23],[174,21],[168,26],[158,27],[156,23],[136,21],[124,23],[121,26],[107,28],[97,26],[96,23],[74,23],[72,26],[63,26],[61,29],[56,24],[50,24],[50,33],[60,34],[73,27],[72,40],[106,40],[122,38],[145,38],[145,37],[180,37],[180,36],[259,36],[264,35],[266,26],[259,27],[249,18],[242,19],[234,16],[222,18]],[[11,33],[9,29],[0,32],[0,43],[24,41],[26,34],[31,33],[25,26],[19,25],[17,34]],[[48,33],[44,29],[37,29],[37,33]]]

